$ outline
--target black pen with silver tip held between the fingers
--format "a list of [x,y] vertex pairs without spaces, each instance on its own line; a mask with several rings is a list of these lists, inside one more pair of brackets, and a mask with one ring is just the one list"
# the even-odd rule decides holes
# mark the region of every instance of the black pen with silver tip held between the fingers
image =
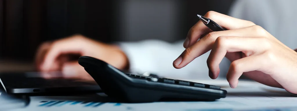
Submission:
[[227,30],[227,29],[221,27],[219,24],[217,24],[216,22],[212,21],[209,18],[203,17],[201,15],[197,15],[197,16],[204,23],[204,25],[206,25],[210,30],[212,30],[214,32]]

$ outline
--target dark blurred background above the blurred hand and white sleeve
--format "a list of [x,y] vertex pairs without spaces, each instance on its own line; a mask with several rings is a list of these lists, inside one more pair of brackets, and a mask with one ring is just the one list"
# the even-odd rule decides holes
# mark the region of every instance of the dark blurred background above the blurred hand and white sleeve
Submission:
[[0,59],[31,61],[42,42],[82,34],[112,43],[185,39],[198,18],[233,0],[0,0]]

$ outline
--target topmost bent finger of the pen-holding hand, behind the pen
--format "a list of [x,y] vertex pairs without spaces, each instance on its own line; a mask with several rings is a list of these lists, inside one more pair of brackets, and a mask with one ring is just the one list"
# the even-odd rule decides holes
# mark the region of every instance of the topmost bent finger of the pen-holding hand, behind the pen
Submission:
[[[226,28],[227,30],[233,30],[233,29],[240,29],[240,28],[246,28],[252,25],[255,25],[251,21],[247,20],[241,20],[234,17],[230,17],[228,15],[224,15],[218,12],[209,11],[207,12],[204,17],[207,17],[220,26]],[[198,39],[205,34],[209,30],[204,23],[199,20],[188,32],[186,41],[184,42],[184,48],[188,48],[189,46],[192,46],[195,44]]]

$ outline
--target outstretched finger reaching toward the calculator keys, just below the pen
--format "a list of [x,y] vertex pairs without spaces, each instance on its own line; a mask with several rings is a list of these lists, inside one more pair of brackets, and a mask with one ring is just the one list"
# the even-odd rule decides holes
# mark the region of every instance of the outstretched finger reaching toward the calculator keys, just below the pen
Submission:
[[[253,33],[251,33],[253,32]],[[201,38],[197,43],[188,47],[184,52],[173,62],[175,68],[182,68],[192,62],[196,57],[210,51],[214,42],[219,36],[238,36],[238,37],[263,37],[266,31],[258,25],[253,25],[247,28],[225,30],[211,32]]]

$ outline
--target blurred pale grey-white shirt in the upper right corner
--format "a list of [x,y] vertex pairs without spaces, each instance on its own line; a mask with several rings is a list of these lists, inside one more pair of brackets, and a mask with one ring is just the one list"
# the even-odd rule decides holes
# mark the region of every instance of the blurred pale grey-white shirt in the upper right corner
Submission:
[[260,25],[291,49],[297,48],[296,0],[237,0],[230,16]]

